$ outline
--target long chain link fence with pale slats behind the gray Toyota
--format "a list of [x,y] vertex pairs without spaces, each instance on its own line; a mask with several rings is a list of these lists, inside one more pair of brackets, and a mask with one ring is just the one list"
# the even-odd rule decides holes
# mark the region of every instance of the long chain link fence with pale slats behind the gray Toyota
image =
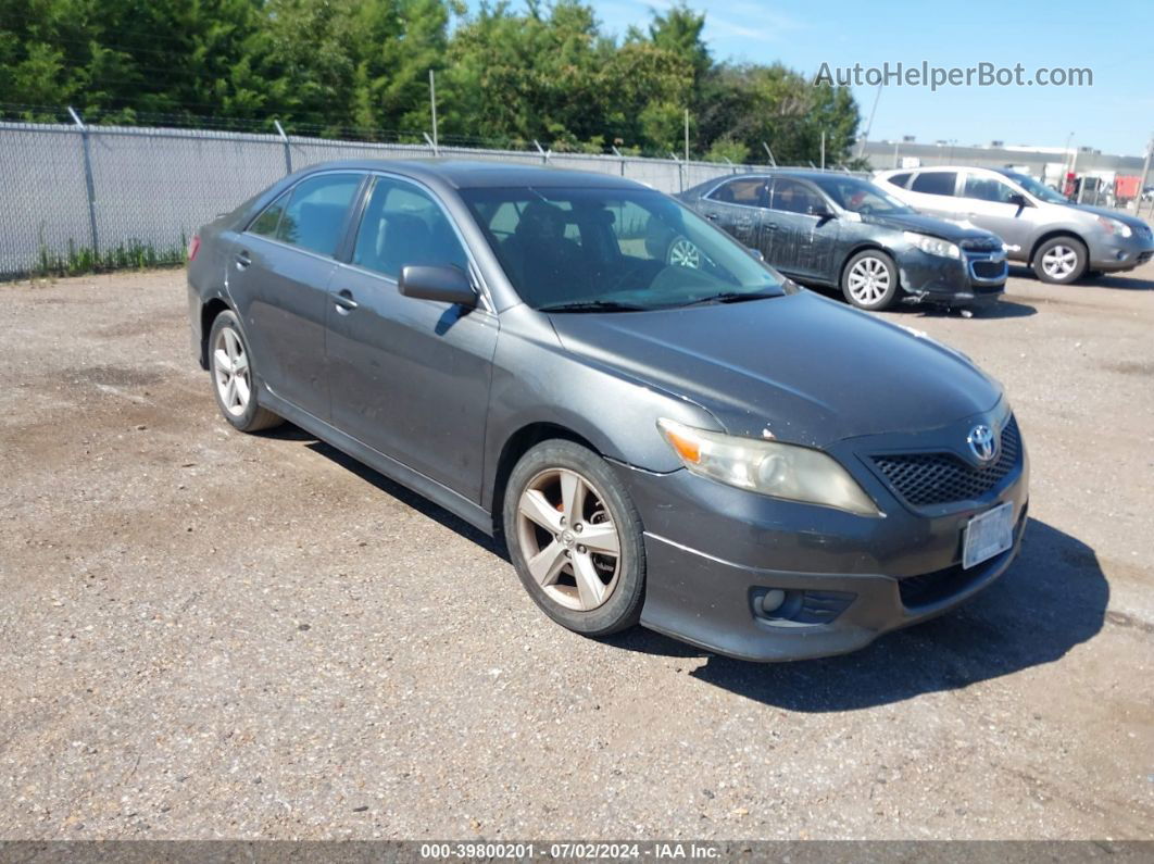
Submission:
[[[286,173],[433,155],[295,135],[0,122],[0,278],[178,263],[200,225]],[[458,146],[436,155],[601,172],[665,193],[765,167]]]

